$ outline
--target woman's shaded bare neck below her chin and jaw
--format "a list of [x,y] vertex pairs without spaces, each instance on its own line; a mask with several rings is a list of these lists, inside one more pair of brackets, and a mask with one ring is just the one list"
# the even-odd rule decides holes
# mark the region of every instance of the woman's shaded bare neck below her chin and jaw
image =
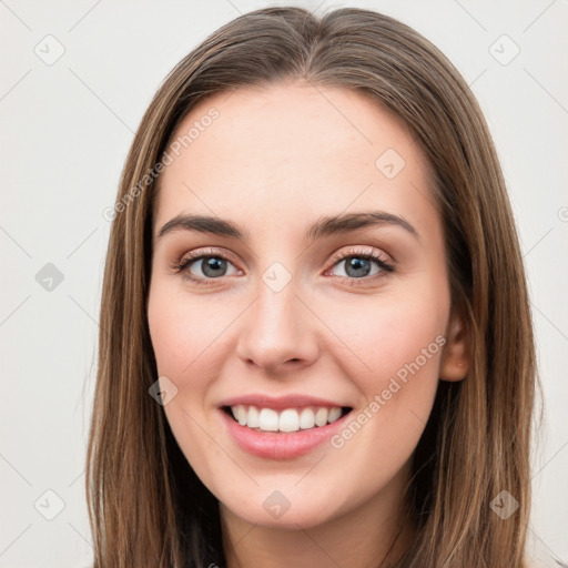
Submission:
[[385,487],[373,498],[315,527],[251,524],[220,505],[227,568],[395,566],[409,547],[414,526],[403,519],[403,489]]

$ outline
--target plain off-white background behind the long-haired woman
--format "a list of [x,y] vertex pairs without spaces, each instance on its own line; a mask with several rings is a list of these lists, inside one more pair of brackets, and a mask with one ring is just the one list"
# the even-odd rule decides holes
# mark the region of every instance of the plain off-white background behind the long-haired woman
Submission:
[[[317,13],[371,8],[409,23],[448,55],[481,104],[518,222],[544,384],[529,529],[541,550],[567,561],[568,3],[290,3]],[[0,1],[4,568],[81,568],[92,558],[83,485],[110,230],[102,212],[171,68],[240,13],[276,4]]]

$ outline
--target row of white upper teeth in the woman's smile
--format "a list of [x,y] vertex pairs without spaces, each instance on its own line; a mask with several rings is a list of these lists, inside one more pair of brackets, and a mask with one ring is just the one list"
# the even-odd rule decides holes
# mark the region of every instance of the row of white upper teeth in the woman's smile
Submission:
[[332,408],[286,408],[276,412],[273,408],[258,408],[239,404],[231,406],[231,412],[241,426],[260,428],[264,432],[296,432],[316,426],[325,426],[335,422],[342,415],[338,406]]

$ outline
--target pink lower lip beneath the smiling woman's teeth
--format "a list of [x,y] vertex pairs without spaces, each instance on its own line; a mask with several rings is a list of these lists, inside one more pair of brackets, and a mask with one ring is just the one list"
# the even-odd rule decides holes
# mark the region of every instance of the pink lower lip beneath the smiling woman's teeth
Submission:
[[253,456],[268,459],[291,459],[308,454],[341,429],[346,417],[351,414],[348,413],[325,426],[315,426],[314,428],[290,433],[275,433],[256,432],[246,426],[241,426],[225,410],[220,409],[220,412],[229,433],[241,449]]

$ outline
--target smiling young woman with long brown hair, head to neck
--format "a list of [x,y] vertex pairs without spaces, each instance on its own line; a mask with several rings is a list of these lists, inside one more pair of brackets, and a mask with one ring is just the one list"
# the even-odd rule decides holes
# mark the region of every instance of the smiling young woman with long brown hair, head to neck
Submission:
[[268,8],[184,58],[100,323],[97,567],[528,566],[518,237],[477,102],[407,26]]

